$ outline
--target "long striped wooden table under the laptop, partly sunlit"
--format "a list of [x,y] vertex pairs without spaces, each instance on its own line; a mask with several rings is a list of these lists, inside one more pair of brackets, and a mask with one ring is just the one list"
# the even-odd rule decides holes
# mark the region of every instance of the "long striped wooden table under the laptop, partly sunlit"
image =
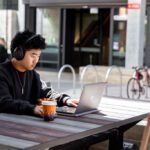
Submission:
[[123,133],[144,119],[149,108],[147,102],[103,97],[97,114],[58,116],[51,122],[38,117],[1,113],[0,150],[73,150],[106,139],[109,139],[110,150],[119,150]]

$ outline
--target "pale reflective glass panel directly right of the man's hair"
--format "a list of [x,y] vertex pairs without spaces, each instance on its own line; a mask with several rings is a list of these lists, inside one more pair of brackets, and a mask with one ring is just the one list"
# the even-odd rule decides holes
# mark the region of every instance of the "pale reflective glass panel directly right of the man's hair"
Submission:
[[47,48],[41,54],[39,67],[58,68],[60,9],[44,8],[41,11],[41,34],[46,39]]

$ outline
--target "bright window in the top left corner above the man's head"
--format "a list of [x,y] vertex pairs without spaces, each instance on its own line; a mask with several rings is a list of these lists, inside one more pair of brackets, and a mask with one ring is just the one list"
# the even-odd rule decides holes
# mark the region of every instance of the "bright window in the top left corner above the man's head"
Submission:
[[14,35],[24,30],[24,5],[22,0],[0,1],[0,37],[6,41],[10,53],[10,42]]

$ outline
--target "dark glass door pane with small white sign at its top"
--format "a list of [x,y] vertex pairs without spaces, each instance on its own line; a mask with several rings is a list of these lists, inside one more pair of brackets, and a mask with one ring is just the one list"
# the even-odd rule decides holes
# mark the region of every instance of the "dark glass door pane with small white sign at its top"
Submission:
[[80,65],[100,64],[100,26],[98,9],[91,13],[90,9],[76,10],[74,54]]

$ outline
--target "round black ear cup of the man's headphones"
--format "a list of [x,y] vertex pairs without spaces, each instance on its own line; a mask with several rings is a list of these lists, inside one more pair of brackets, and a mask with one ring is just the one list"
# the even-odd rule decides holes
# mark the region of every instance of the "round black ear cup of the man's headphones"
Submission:
[[13,57],[17,60],[22,60],[24,58],[24,50],[22,47],[16,47],[13,52]]

